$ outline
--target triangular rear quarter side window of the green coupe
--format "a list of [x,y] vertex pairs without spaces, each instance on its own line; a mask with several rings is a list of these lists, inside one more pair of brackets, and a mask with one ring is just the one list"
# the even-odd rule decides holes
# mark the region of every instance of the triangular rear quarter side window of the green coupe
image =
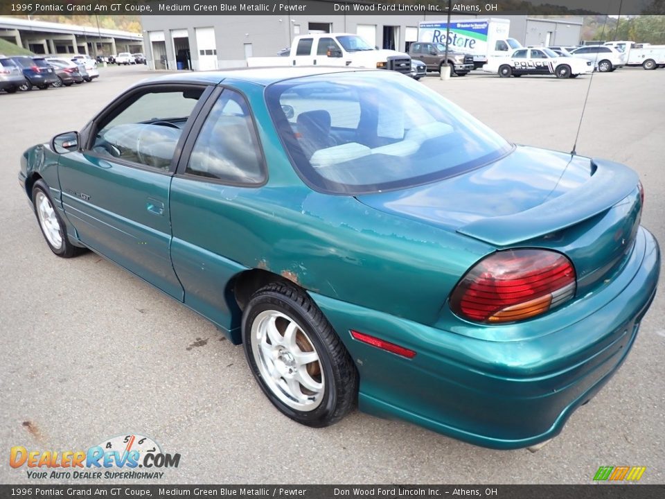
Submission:
[[199,132],[185,173],[235,185],[265,180],[251,113],[238,92],[222,92]]

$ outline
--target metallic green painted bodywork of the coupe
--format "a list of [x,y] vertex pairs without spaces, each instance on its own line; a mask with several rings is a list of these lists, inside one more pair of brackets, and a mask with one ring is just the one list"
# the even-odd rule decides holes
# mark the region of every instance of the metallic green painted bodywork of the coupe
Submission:
[[[594,195],[587,184],[598,187],[588,159],[517,148],[445,182],[358,199],[326,195],[296,174],[265,107],[265,85],[289,73],[261,71],[156,81],[221,82],[246,96],[269,173],[263,186],[193,180],[82,152],[56,156],[47,146],[26,151],[19,182],[30,195],[31,179],[43,177],[71,238],[208,317],[233,342],[240,342],[233,285],[242,272],[263,269],[295,281],[356,362],[366,412],[495,448],[556,435],[626,357],[655,294],[659,249],[639,228],[637,177],[597,161],[626,180],[607,187],[603,207],[580,197]],[[300,69],[296,76],[308,71],[320,73]],[[545,208],[571,197],[584,204],[579,217]],[[481,221],[524,220],[531,209],[542,218],[500,232]],[[519,324],[488,326],[454,315],[451,290],[504,245],[569,256],[579,278],[574,299]],[[357,342],[351,329],[416,357]]]

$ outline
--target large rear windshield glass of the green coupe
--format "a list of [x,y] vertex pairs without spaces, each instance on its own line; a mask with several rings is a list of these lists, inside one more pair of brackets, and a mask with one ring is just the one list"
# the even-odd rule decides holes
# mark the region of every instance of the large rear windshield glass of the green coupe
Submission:
[[512,149],[459,107],[396,73],[294,78],[269,86],[266,98],[296,170],[323,192],[434,182]]

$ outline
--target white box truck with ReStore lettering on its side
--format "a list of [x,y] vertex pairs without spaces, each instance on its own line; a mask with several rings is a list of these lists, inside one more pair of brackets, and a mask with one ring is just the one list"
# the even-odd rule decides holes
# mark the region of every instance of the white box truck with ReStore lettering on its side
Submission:
[[420,21],[418,24],[418,42],[448,44],[457,52],[473,56],[476,69],[483,67],[490,57],[506,57],[522,44],[508,36],[511,28],[510,19],[464,19],[450,22],[450,35],[447,40],[447,22]]

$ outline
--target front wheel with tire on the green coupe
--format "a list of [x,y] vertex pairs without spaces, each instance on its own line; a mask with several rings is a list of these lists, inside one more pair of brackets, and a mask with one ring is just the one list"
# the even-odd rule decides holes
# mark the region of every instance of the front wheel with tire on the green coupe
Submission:
[[62,258],[71,258],[83,252],[80,247],[76,247],[69,242],[67,238],[67,228],[62,222],[62,218],[57,214],[49,189],[46,182],[37,180],[33,186],[33,207],[35,216],[39,222],[39,228],[42,229],[42,235],[46,239],[46,244],[51,251]]

